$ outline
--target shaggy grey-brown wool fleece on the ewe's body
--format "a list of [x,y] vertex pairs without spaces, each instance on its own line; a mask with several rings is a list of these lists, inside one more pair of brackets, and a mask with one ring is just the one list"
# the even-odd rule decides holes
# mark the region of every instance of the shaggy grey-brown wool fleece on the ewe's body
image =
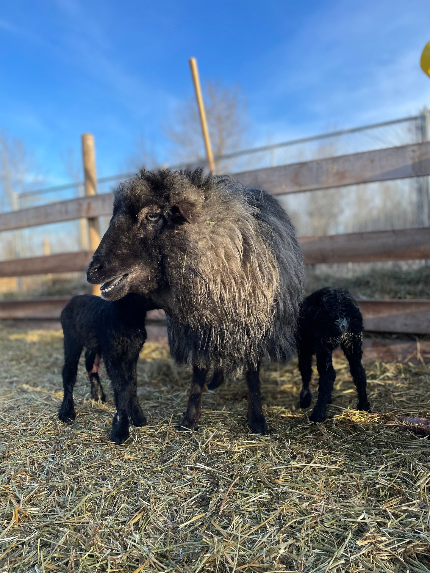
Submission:
[[[264,191],[227,176],[165,173],[157,175],[179,197],[189,197],[190,187],[204,196],[193,223],[175,229],[163,253],[172,355],[236,374],[261,359],[285,359],[303,291],[302,253],[287,214]],[[141,176],[154,184],[154,175]]]

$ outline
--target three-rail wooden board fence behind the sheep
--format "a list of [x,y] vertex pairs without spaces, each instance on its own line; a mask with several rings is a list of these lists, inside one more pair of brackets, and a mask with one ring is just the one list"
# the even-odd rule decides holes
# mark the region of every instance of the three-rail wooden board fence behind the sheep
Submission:
[[[430,175],[430,142],[237,173],[273,195]],[[0,231],[112,213],[112,194],[89,195],[0,214]],[[300,237],[305,264],[430,259],[430,228]],[[91,252],[0,262],[0,277],[83,271]],[[2,301],[0,319],[58,318],[68,297]],[[360,301],[369,331],[430,333],[430,300]],[[157,315],[159,316],[159,315]]]

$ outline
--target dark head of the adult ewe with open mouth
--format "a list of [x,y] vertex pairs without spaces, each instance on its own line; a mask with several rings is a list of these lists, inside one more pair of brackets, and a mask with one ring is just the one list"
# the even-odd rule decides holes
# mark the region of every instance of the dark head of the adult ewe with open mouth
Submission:
[[118,300],[128,292],[162,295],[168,289],[169,258],[181,257],[172,245],[186,253],[183,227],[204,202],[201,190],[184,189],[181,182],[166,172],[153,180],[135,177],[116,191],[110,225],[87,271],[89,282],[103,283],[103,299]]

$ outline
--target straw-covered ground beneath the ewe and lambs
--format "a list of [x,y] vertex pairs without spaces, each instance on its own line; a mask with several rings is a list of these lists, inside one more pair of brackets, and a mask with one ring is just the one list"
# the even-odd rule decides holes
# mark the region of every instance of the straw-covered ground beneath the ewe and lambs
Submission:
[[200,429],[180,433],[190,372],[148,343],[149,425],[122,446],[107,438],[108,381],[108,404],[92,402],[83,366],[76,421],[58,422],[61,366],[60,333],[0,329],[0,571],[430,571],[430,441],[387,423],[430,416],[424,364],[367,364],[369,415],[336,359],[331,418],[315,426],[295,407],[296,361],[274,364],[269,435],[244,426],[242,380],[206,392]]

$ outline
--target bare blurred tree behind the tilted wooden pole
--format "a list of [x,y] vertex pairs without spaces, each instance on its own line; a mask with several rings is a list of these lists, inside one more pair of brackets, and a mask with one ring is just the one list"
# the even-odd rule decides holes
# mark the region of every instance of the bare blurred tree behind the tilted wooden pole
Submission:
[[[204,89],[204,103],[214,156],[240,150],[247,130],[247,106],[240,89],[208,82]],[[174,145],[175,160],[194,162],[205,157],[200,115],[194,96],[177,105],[164,131]]]

